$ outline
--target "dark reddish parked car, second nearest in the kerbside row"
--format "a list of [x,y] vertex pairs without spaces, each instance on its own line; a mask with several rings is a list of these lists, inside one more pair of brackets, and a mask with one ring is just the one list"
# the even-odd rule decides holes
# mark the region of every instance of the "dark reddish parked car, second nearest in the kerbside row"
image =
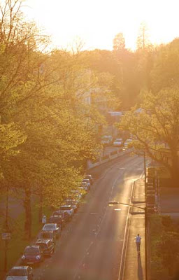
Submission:
[[27,265],[39,264],[43,261],[43,251],[40,246],[31,245],[24,249],[21,257],[22,263]]

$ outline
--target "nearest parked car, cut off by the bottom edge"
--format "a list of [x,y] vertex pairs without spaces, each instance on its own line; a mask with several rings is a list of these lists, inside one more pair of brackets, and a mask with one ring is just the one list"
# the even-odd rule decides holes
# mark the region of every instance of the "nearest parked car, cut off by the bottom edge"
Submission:
[[29,266],[12,267],[6,276],[6,280],[33,280],[33,269]]

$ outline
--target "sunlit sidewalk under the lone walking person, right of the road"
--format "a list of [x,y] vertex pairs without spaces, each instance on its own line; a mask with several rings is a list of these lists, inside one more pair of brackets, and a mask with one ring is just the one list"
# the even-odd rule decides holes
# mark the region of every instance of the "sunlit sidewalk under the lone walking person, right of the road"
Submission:
[[[145,207],[144,179],[135,181],[131,203],[138,207]],[[135,237],[138,233],[142,237],[141,254],[136,250]],[[145,212],[136,207],[131,209],[123,272],[122,280],[145,280]]]

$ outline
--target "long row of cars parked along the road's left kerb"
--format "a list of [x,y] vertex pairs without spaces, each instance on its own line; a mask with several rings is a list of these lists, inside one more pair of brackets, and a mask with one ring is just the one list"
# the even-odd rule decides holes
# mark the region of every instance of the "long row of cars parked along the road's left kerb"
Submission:
[[68,223],[73,214],[78,211],[82,196],[87,193],[93,184],[92,175],[87,174],[77,190],[73,190],[71,195],[64,200],[64,204],[56,209],[48,223],[43,225],[38,234],[35,244],[24,249],[21,257],[21,266],[10,269],[6,275],[6,280],[33,280],[34,274],[31,265],[40,265],[45,257],[51,257],[55,251],[55,244],[59,239],[62,229]]

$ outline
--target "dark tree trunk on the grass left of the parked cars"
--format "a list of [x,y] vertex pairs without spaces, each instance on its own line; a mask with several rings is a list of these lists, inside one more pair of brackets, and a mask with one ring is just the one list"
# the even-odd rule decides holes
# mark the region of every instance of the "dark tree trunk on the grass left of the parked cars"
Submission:
[[24,210],[25,210],[25,222],[24,222],[24,236],[27,239],[31,238],[31,188],[24,188]]

